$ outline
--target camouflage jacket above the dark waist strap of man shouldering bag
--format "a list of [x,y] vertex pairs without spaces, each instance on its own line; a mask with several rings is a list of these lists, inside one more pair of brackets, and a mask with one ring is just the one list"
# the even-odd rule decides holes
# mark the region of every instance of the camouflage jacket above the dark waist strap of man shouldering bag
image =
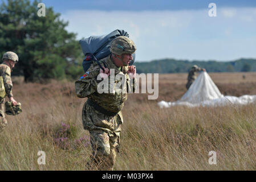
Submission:
[[[80,98],[88,97],[90,98],[90,100],[96,102],[96,104],[103,107],[105,110],[117,113],[121,109],[123,109],[124,102],[127,100],[127,93],[135,91],[137,80],[135,78],[133,78],[132,80],[131,78],[129,78],[128,66],[121,68],[116,67],[116,65],[111,60],[111,56],[108,56],[100,61],[104,61],[109,71],[115,71],[115,74],[112,74],[112,76],[108,76],[108,79],[105,79],[103,81],[97,80],[97,76],[100,73],[100,67],[94,61],[86,74],[84,74],[84,76],[80,77],[75,82],[76,95]],[[113,75],[115,75],[115,77],[113,77]],[[120,77],[125,78],[124,81],[126,82],[124,82],[123,86],[117,86],[121,85],[121,83],[123,82],[123,79]],[[108,90],[106,91],[108,92],[99,93],[97,89],[100,85],[103,84],[104,81],[107,82]],[[111,83],[112,88],[113,85],[115,87],[115,89],[112,89],[112,91]]]

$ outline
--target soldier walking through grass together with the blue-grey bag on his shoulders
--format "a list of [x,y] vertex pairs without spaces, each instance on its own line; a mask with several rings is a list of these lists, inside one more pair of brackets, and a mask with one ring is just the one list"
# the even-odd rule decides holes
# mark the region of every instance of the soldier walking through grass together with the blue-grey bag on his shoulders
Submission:
[[[126,36],[120,36],[124,31],[116,30],[112,33],[115,35],[90,37],[80,41],[83,53],[87,56],[84,60],[86,74],[75,82],[75,91],[79,98],[88,98],[82,111],[83,127],[90,133],[92,148],[92,155],[86,164],[87,170],[113,170],[120,149],[120,132],[123,125],[121,110],[128,98],[128,92],[125,91],[134,91],[137,85],[136,68],[131,65],[136,51],[135,43],[128,38],[126,32]],[[99,44],[95,44],[96,42]],[[113,80],[108,79],[110,72],[114,75]],[[101,76],[101,73],[105,73],[105,77]],[[98,76],[101,80],[103,78],[107,85],[122,85],[117,86],[120,92],[111,92],[110,86],[107,92],[98,92],[97,88],[101,83]]]

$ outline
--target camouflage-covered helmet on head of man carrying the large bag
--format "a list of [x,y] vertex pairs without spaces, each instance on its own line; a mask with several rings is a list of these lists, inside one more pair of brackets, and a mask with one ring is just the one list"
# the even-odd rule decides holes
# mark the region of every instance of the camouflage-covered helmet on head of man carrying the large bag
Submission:
[[119,56],[123,53],[133,54],[136,51],[136,46],[128,37],[118,36],[112,41],[110,51]]

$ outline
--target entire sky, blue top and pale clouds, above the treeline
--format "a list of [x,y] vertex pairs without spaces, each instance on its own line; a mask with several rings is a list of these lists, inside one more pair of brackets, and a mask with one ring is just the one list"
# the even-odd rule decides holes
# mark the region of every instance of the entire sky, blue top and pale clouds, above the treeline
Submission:
[[[67,30],[76,32],[78,40],[127,31],[136,43],[137,61],[256,58],[256,1],[42,2],[70,22]],[[216,17],[208,15],[212,2]]]

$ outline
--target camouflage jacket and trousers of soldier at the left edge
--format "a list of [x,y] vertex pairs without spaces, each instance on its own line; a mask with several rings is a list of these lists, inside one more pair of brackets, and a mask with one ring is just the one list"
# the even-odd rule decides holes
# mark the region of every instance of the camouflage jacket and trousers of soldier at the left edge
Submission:
[[[5,92],[6,92],[7,96],[9,98],[13,97],[13,92],[12,92],[13,83],[11,82],[11,69],[5,63],[0,64],[0,76],[3,77],[3,83],[5,85]],[[5,105],[5,98],[2,98],[2,99],[0,99],[0,117],[1,117],[1,126],[0,127],[5,127],[7,125],[7,121],[5,118],[4,105]]]

